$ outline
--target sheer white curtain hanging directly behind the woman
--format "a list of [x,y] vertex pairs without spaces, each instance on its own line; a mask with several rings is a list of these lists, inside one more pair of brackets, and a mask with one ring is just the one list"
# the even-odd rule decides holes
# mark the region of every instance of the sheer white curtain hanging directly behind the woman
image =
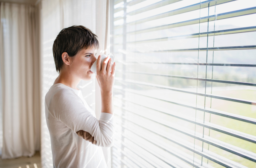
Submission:
[[[99,37],[100,48],[97,51],[97,55],[104,53],[104,50],[108,50],[109,44],[109,36],[106,36],[107,38],[105,39],[105,35],[109,34],[109,24],[106,24],[106,17],[108,16],[106,15],[107,4],[107,0],[41,0],[41,62],[43,75],[41,160],[43,168],[53,167],[50,136],[43,106],[45,94],[58,77],[52,55],[53,42],[61,29],[72,25],[83,25]],[[81,81],[78,88],[82,90],[85,100],[96,111],[96,118],[99,119],[101,97],[95,76],[91,81]],[[108,168],[111,168],[110,148],[102,148],[102,151]]]

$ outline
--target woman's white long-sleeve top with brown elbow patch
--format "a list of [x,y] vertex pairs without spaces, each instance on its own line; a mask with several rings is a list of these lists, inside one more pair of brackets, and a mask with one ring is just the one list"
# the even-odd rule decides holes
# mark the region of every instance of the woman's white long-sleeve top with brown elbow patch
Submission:
[[47,92],[45,115],[54,168],[107,168],[101,147],[113,146],[114,115],[97,120],[81,90],[61,83]]

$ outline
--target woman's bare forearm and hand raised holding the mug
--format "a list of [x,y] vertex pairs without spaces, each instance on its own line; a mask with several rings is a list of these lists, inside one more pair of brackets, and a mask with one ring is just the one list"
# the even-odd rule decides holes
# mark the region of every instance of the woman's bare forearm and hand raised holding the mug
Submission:
[[97,81],[101,90],[102,111],[113,115],[113,85],[115,78],[116,63],[111,64],[111,58],[105,58],[102,68],[101,56],[97,60]]

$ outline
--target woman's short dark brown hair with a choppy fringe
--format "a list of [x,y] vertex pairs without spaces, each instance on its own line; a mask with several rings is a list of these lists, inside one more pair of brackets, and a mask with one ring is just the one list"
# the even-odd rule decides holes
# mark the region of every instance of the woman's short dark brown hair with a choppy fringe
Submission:
[[53,58],[57,73],[60,73],[64,64],[61,55],[67,52],[68,56],[75,56],[81,49],[99,48],[98,36],[82,25],[73,25],[60,31],[52,46]]

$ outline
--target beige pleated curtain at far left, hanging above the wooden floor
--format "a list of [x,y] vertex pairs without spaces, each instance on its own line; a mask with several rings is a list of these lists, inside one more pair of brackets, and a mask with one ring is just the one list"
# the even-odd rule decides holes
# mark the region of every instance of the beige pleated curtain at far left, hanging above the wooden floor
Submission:
[[40,64],[35,7],[0,4],[2,158],[40,150]]

